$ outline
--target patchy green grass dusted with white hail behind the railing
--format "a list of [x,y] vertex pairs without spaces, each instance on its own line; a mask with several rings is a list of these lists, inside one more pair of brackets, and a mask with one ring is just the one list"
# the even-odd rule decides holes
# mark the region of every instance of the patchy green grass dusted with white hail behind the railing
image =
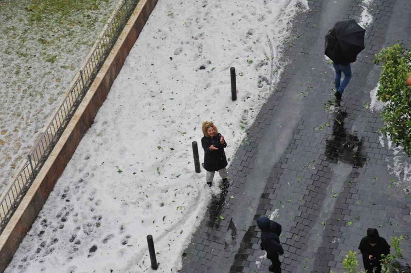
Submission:
[[117,3],[0,2],[0,194]]

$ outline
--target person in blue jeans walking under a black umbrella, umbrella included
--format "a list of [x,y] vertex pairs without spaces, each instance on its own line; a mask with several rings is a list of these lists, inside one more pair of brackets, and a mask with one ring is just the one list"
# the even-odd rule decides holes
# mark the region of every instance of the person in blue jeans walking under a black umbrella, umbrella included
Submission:
[[[365,29],[353,19],[335,23],[325,39],[325,55],[332,60],[335,69],[335,97],[341,101],[342,93],[351,80],[351,62],[364,46]],[[344,80],[341,76],[344,73]]]

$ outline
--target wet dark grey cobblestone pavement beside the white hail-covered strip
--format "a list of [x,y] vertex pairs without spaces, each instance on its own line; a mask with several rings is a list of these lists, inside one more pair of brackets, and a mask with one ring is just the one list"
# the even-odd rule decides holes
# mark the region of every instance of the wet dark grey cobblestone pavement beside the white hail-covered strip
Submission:
[[379,141],[379,114],[367,109],[381,69],[373,56],[396,40],[411,43],[411,7],[374,3],[366,48],[339,107],[331,103],[323,37],[335,21],[358,19],[361,0],[309,0],[310,11],[297,16],[282,80],[237,151],[232,185],[212,200],[182,272],[268,272],[256,219],[273,211],[283,227],[283,272],[343,272],[344,256],[358,251],[368,227],[388,242],[404,235],[404,262],[411,261],[411,196],[389,186],[385,160],[393,151]]

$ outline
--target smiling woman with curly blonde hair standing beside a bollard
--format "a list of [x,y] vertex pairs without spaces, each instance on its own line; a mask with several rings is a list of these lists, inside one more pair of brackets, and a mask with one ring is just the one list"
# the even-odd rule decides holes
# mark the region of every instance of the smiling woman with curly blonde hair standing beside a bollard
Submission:
[[218,171],[224,187],[227,188],[229,186],[226,170],[228,163],[224,153],[227,142],[212,122],[203,122],[202,129],[204,136],[201,138],[201,146],[204,149],[204,169],[207,171],[205,181],[211,187],[214,173]]

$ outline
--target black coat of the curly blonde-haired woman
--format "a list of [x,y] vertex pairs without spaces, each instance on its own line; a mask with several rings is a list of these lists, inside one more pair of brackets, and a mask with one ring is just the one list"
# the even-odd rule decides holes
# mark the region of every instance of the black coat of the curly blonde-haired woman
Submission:
[[[201,138],[201,146],[204,149],[204,169],[209,172],[216,172],[228,165],[224,148],[227,147],[227,142],[220,143],[221,134],[217,133],[214,137],[203,136]],[[218,150],[210,150],[209,147],[214,145]]]

